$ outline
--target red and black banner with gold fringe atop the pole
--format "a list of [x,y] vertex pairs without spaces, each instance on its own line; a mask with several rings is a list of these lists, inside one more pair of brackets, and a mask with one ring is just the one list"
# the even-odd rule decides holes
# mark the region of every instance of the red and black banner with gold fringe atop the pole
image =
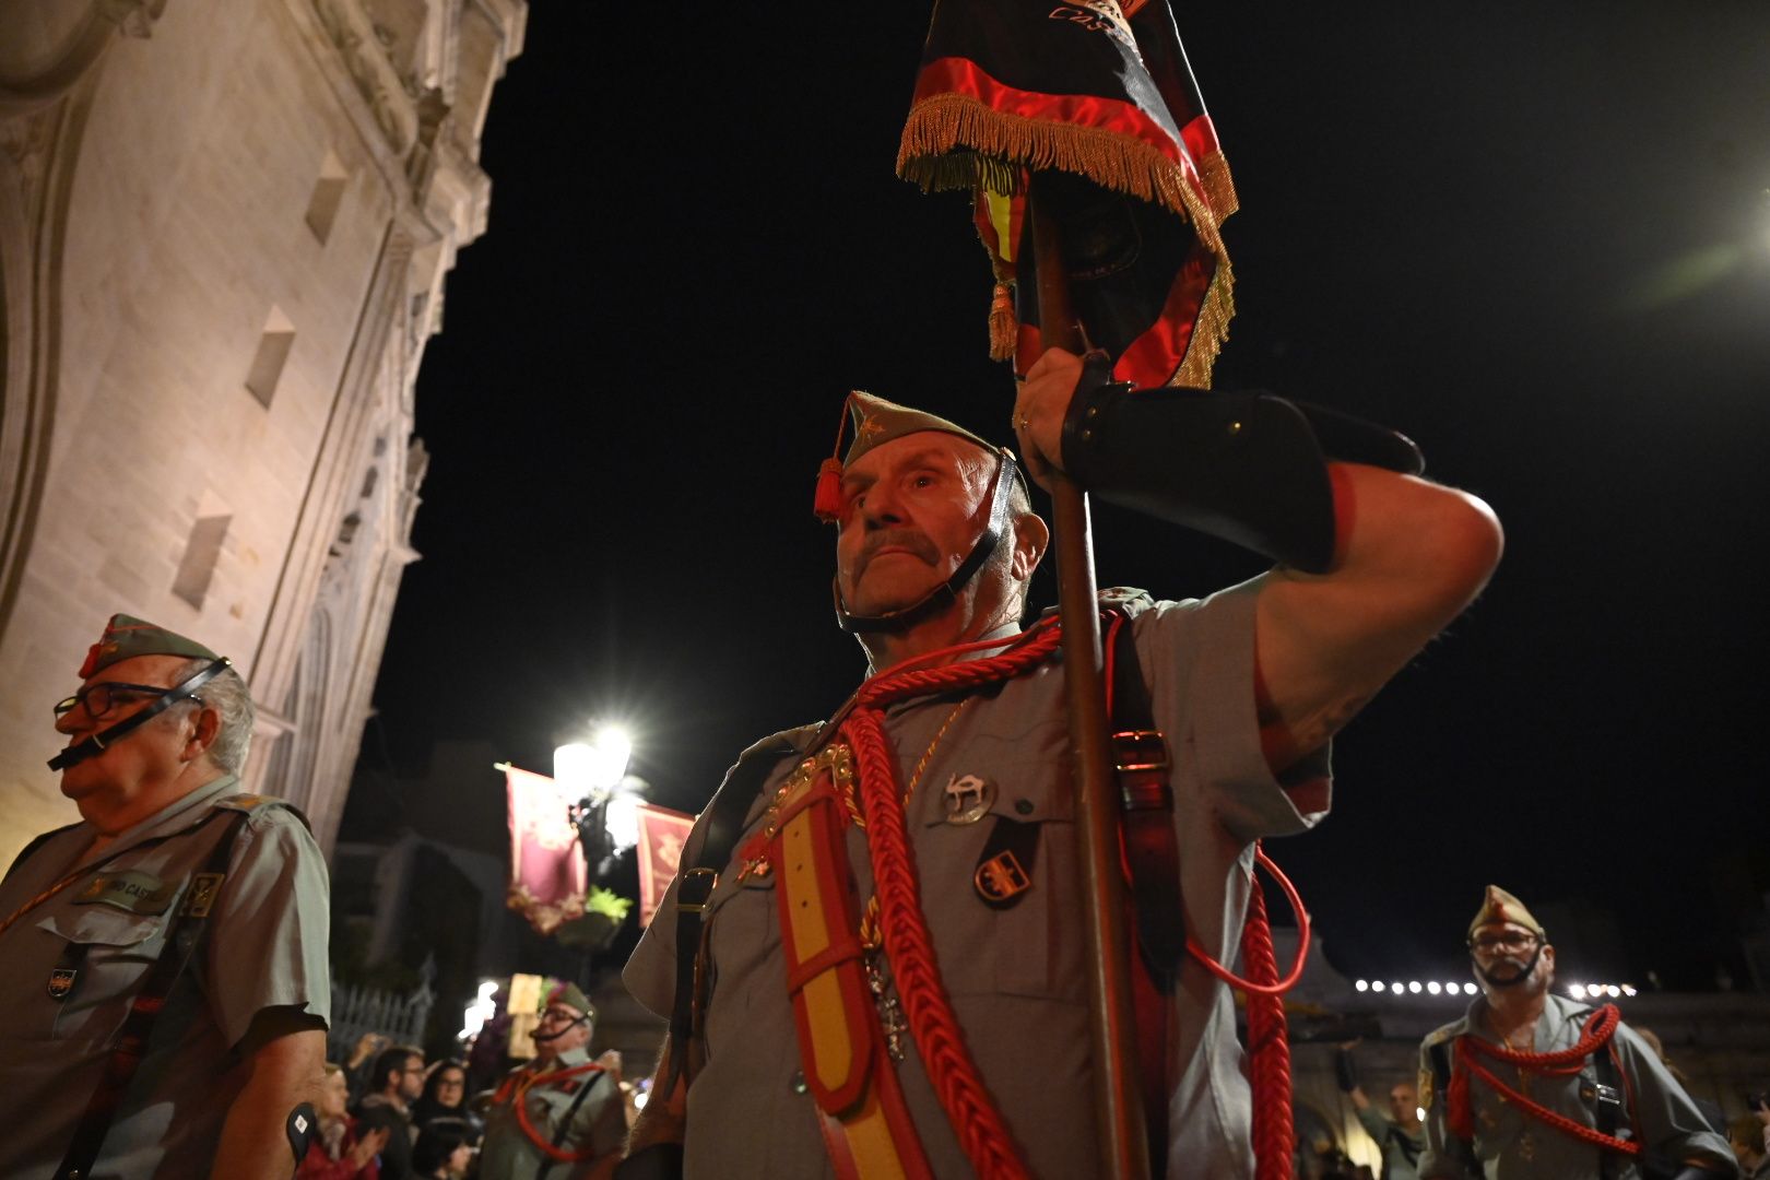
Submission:
[[1211,384],[1234,315],[1218,225],[1235,188],[1166,0],[938,0],[897,172],[974,193],[997,357],[1025,370],[1043,349],[1035,285],[1014,281],[1035,186],[1113,375]]

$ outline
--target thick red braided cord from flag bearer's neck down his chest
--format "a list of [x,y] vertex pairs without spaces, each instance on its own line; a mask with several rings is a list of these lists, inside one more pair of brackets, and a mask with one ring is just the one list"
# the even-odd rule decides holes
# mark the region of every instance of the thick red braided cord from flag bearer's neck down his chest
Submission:
[[922,918],[915,853],[904,830],[903,798],[885,741],[883,709],[906,697],[1018,676],[1050,655],[1058,639],[1057,628],[1051,626],[1032,642],[998,656],[874,678],[862,685],[857,708],[844,725],[858,768],[885,954],[929,1083],[940,1095],[966,1159],[982,1180],[1018,1180],[1027,1169],[1014,1153],[1002,1113],[965,1049],[963,1030],[940,978],[935,945]]

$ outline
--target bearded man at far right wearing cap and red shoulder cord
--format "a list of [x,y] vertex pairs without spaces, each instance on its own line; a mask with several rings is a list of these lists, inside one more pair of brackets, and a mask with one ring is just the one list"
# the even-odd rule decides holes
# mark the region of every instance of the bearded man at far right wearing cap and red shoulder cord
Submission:
[[1728,1141],[1612,1005],[1549,991],[1549,934],[1497,885],[1469,923],[1469,957],[1481,996],[1420,1053],[1421,1180],[1738,1175]]

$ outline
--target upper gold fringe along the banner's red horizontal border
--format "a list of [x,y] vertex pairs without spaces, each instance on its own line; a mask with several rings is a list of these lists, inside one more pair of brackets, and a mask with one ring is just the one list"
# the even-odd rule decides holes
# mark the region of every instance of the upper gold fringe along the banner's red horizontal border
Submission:
[[1004,115],[965,94],[936,94],[910,110],[897,175],[924,191],[982,186],[1012,193],[1020,168],[1074,172],[1161,205],[1186,218],[1211,253],[1225,257],[1218,214],[1186,180],[1186,170],[1147,143],[1117,131]]

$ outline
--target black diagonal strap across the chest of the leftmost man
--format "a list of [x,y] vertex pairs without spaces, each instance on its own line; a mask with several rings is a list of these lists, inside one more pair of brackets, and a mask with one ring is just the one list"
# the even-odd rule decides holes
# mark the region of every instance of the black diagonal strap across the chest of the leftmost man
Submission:
[[227,831],[216,840],[214,851],[209,853],[209,860],[202,870],[191,874],[191,883],[184,890],[184,902],[166,923],[166,941],[159,950],[159,959],[147,969],[142,991],[129,1003],[129,1015],[124,1017],[115,1042],[112,1042],[104,1074],[92,1097],[87,1099],[87,1109],[74,1125],[74,1138],[67,1145],[67,1155],[62,1157],[62,1166],[57,1169],[55,1180],[85,1180],[92,1173],[92,1162],[99,1157],[99,1148],[104,1146],[104,1136],[117,1118],[117,1109],[122,1106],[129,1083],[147,1056],[147,1044],[154,1035],[154,1021],[166,1005],[166,996],[172,994],[173,984],[179,982],[184,968],[189,966],[196,941],[204,934],[209,909],[214,906],[216,893],[227,879],[234,840],[239,837],[244,821],[246,812],[228,812],[227,816],[218,812],[205,821],[223,823],[227,824]]

